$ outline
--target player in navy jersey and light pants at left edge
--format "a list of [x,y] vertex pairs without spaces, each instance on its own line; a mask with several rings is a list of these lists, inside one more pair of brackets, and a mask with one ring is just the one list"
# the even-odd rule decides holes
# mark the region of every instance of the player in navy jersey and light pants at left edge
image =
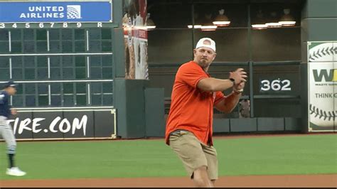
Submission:
[[7,168],[7,175],[23,176],[25,172],[21,171],[14,165],[14,155],[16,151],[16,141],[11,125],[7,119],[11,114],[16,114],[15,109],[11,109],[9,105],[9,96],[15,95],[16,84],[14,82],[7,82],[4,90],[0,91],[0,136],[4,138],[7,144],[7,155],[9,157],[9,168]]

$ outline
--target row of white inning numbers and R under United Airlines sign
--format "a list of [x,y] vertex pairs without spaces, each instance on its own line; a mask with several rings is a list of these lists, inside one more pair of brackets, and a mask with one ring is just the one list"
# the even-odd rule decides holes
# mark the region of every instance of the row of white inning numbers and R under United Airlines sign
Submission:
[[[102,22],[97,22],[96,23],[97,28],[102,28]],[[64,23],[45,23],[45,22],[41,22],[41,23],[0,23],[0,28],[31,28],[32,26],[34,26],[34,28],[81,28],[82,27],[82,23],[77,22],[77,23],[68,23],[68,22],[64,22]]]

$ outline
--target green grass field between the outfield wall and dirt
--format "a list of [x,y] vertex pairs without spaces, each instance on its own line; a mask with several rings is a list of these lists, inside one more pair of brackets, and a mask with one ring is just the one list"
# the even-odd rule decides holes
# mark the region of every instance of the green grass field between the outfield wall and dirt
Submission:
[[[219,175],[337,173],[337,135],[319,134],[215,139]],[[16,163],[28,174],[5,174],[6,146],[0,143],[1,179],[132,178],[186,176],[163,140],[18,142]]]

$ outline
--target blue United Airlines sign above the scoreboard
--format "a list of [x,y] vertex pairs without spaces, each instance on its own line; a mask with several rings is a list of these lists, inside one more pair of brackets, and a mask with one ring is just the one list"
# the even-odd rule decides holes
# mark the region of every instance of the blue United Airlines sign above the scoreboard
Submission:
[[112,2],[0,2],[1,22],[112,22]]

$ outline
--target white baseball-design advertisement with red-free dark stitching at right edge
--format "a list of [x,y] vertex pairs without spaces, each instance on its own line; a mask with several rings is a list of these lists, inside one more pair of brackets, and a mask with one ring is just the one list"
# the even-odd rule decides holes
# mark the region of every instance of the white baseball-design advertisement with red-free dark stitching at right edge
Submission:
[[309,42],[309,131],[336,131],[337,42]]

